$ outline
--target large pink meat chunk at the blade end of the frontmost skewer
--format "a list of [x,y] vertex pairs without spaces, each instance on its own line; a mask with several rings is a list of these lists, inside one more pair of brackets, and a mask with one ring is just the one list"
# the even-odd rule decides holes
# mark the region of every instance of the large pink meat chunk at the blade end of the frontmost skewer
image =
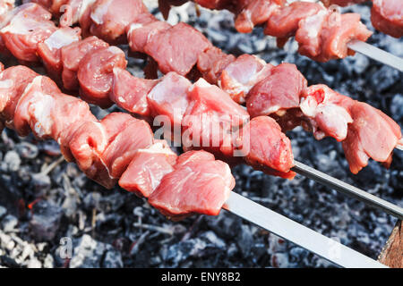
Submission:
[[[193,154],[199,152],[204,151],[193,151]],[[214,158],[189,161],[164,176],[150,195],[150,205],[168,217],[219,214],[235,186],[229,166]]]

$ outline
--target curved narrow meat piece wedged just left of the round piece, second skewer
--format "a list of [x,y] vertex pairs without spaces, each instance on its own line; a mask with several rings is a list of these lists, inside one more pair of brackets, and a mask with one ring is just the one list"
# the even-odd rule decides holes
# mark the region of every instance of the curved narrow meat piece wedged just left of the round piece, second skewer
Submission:
[[87,54],[93,54],[102,47],[107,47],[107,43],[97,37],[84,38],[81,41],[73,42],[61,49],[62,56],[62,80],[63,86],[67,90],[77,90],[80,86],[77,79],[77,72],[81,60]]

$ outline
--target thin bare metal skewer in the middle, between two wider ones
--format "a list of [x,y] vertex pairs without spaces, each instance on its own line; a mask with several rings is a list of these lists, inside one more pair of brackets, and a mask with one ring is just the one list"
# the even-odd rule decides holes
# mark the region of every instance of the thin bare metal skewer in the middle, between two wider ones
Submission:
[[390,202],[373,196],[372,194],[364,191],[363,189],[358,189],[352,185],[347,184],[347,182],[340,181],[339,179],[333,178],[330,175],[313,169],[312,167],[303,164],[301,162],[294,161],[295,166],[291,169],[313,181],[317,181],[330,189],[335,189],[351,198],[356,198],[369,206],[381,209],[385,213],[391,214],[400,220],[403,220],[403,208],[391,204]]

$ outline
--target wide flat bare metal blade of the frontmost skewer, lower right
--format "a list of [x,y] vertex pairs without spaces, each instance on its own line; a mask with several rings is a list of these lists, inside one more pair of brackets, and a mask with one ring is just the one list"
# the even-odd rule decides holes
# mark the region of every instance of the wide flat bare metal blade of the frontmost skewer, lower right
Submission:
[[331,240],[319,232],[288,219],[286,216],[277,214],[267,207],[244,198],[236,192],[231,192],[223,208],[285,240],[312,251],[336,265],[349,268],[387,267],[370,257],[365,257],[354,249],[347,248],[336,240]]

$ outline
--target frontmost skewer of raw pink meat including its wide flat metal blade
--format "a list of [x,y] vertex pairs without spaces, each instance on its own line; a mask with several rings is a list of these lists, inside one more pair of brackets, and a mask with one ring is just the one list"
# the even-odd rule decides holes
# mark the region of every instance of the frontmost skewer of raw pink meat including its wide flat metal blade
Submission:
[[[124,185],[128,181],[141,185],[139,190],[143,192],[137,192],[139,195],[148,197],[150,205],[161,213],[177,218],[193,213],[219,214],[225,204],[229,212],[336,265],[385,267],[232,192],[235,180],[229,166],[210,153],[189,151],[176,156],[166,142],[152,138],[146,122],[128,114],[108,114],[99,122],[88,104],[64,95],[55,82],[26,67],[15,66],[1,74],[5,81],[1,87],[0,116],[5,125],[21,136],[32,131],[38,139],[55,139],[64,157],[75,161],[92,180],[111,186],[120,177],[121,186],[123,181]],[[148,168],[147,175],[135,172],[141,168]],[[116,172],[116,178],[110,177]],[[152,186],[150,192],[145,191],[147,186]],[[333,248],[338,250],[336,256]]]

